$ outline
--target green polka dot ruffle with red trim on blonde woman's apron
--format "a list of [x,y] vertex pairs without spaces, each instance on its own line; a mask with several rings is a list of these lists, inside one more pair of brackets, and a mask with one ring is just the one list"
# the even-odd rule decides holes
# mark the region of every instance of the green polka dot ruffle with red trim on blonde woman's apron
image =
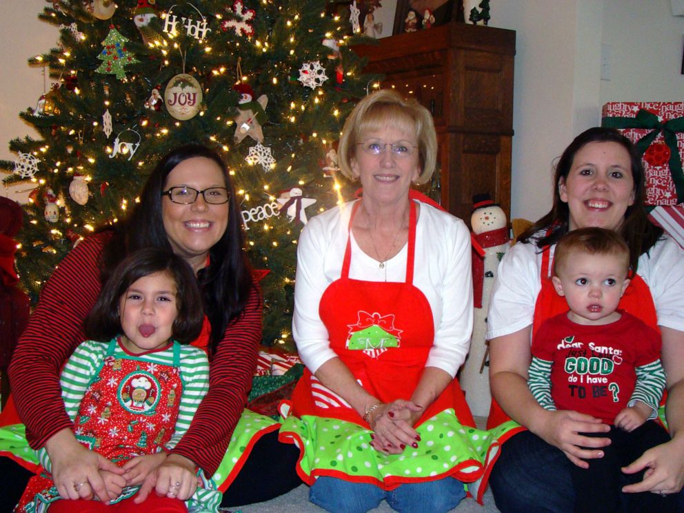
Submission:
[[391,490],[402,483],[452,476],[468,483],[477,497],[480,478],[499,447],[489,432],[461,425],[452,409],[416,427],[421,442],[403,454],[374,450],[368,427],[312,415],[298,418],[290,415],[289,403],[281,404],[281,413],[281,436],[303,447],[299,470],[310,485],[316,476],[333,476]]

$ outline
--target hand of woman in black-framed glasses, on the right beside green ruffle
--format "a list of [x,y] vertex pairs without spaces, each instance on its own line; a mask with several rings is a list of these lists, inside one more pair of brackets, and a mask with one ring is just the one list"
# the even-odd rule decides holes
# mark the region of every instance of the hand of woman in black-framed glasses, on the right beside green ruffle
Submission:
[[170,499],[187,501],[197,490],[197,485],[195,464],[185,456],[169,454],[165,461],[145,478],[134,502],[142,503],[152,490]]

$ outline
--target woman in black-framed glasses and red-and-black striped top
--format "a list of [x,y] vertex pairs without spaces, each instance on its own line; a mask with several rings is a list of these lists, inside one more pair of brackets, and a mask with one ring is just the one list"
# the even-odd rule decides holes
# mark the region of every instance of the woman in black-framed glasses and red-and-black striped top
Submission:
[[[294,447],[279,443],[277,425],[263,419],[256,419],[261,430],[241,427],[250,423],[243,408],[261,341],[261,293],[243,251],[241,215],[228,171],[217,153],[201,145],[166,155],[150,174],[130,218],[81,241],[43,288],[10,366],[12,395],[28,442],[34,449],[46,447],[55,483],[77,490],[82,499],[113,498],[101,473],[120,471],[74,437],[60,395],[59,370],[84,339],[83,320],[101,284],[128,254],[149,246],[172,250],[197,275],[205,328],[194,345],[208,352],[210,387],[188,432],[141,488],[141,499],[150,492],[167,494],[174,483],[188,478],[196,482],[196,475],[213,477],[225,505],[287,492],[301,483],[294,472]],[[255,441],[251,452],[244,450]],[[20,450],[15,453],[13,459],[0,457],[2,511],[11,510],[18,498],[13,493],[21,494],[30,477],[25,470],[30,465]],[[194,487],[187,494],[192,493]]]

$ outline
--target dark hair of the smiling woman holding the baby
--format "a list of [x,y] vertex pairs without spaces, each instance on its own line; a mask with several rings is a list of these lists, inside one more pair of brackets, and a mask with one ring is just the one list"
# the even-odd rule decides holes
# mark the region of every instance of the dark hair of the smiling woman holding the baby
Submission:
[[[630,167],[632,179],[634,180],[634,203],[627,207],[625,220],[618,233],[621,234],[627,243],[627,247],[630,248],[630,266],[636,272],[639,256],[652,248],[656,241],[662,237],[663,230],[650,223],[646,217],[646,210],[643,206],[646,185],[643,165],[641,165],[641,156],[636,152],[630,139],[627,139],[627,137],[614,128],[595,127],[585,130],[565,148],[556,164],[554,204],[550,212],[520,234],[518,241],[530,241],[536,244],[538,248],[545,248],[547,245],[557,243],[567,233],[570,223],[570,210],[567,207],[567,203],[561,200],[559,192],[560,180],[561,178],[563,180],[567,179],[567,175],[570,174],[570,168],[572,168],[572,162],[579,150],[588,143],[605,142],[618,143],[630,154]],[[539,236],[539,232],[547,232],[548,230],[550,230],[549,234]]]

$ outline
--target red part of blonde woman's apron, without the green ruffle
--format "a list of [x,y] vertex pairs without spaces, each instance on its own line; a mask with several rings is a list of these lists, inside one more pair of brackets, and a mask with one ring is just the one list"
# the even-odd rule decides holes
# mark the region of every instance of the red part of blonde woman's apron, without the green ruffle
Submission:
[[[358,201],[354,204],[348,232],[359,204]],[[328,286],[319,305],[330,347],[354,379],[383,403],[411,398],[434,342],[432,309],[423,292],[413,285],[416,210],[417,205],[412,201],[403,283],[350,279],[350,236],[341,276]],[[296,416],[310,414],[368,426],[348,403],[325,388],[308,369],[294,390],[292,402]],[[474,426],[456,379],[427,408],[418,425],[446,408],[454,408],[461,424]]]

